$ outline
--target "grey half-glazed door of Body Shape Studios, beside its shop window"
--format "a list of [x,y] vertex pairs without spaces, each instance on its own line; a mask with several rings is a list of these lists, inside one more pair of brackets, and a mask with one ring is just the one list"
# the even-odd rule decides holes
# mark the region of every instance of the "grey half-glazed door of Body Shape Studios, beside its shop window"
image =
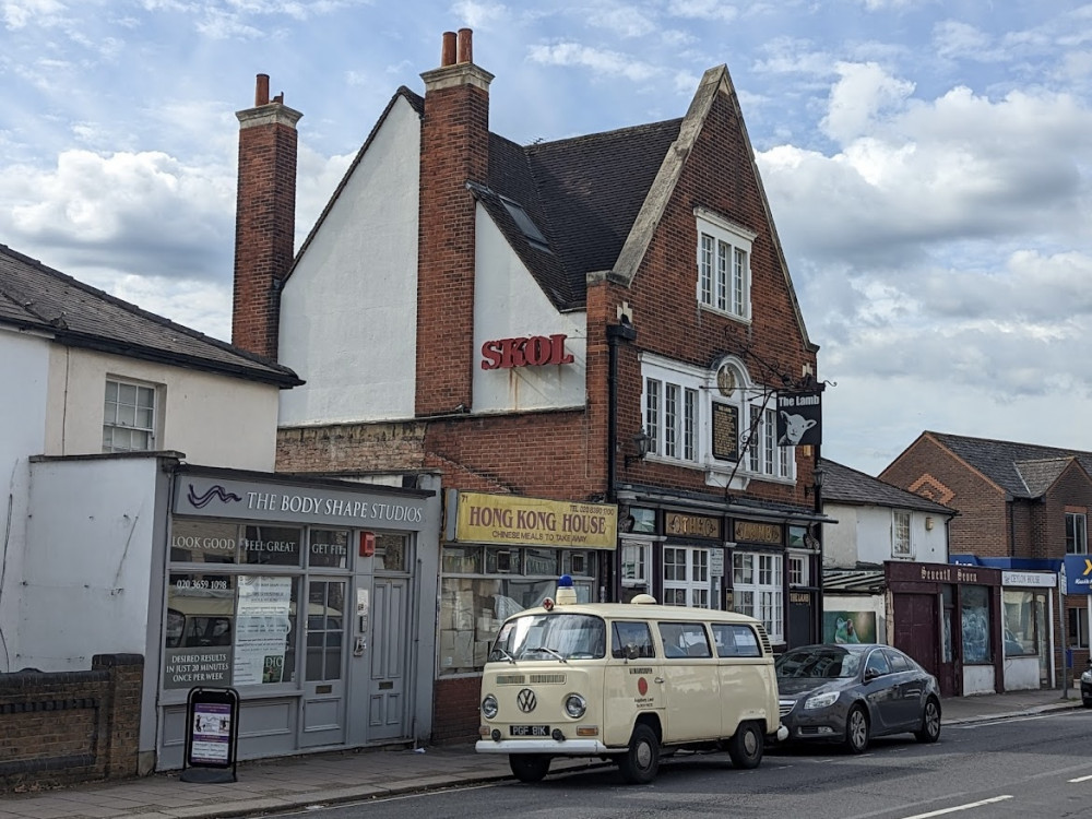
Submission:
[[345,627],[349,615],[345,586],[344,580],[312,579],[307,583],[300,748],[345,741]]

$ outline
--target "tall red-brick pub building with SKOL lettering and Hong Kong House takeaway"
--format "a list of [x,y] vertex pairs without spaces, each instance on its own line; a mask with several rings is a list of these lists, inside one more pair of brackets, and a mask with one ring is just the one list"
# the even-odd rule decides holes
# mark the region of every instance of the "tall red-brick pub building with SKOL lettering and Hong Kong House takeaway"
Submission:
[[781,437],[792,416],[818,444],[784,410],[818,405],[818,347],[726,68],[681,118],[521,146],[489,130],[468,29],[440,62],[294,260],[299,115],[259,78],[234,323],[307,382],[282,396],[277,470],[439,476],[434,739],[476,736],[485,646],[562,572],[584,600],[646,591],[814,639],[818,446]]

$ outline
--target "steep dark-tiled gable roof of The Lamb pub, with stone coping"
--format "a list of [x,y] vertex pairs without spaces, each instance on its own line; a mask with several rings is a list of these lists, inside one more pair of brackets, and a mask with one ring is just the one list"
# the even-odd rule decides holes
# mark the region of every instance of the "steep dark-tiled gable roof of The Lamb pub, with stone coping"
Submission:
[[[554,307],[583,309],[589,276],[610,276],[626,285],[632,282],[719,93],[728,95],[738,116],[796,323],[805,344],[814,347],[726,66],[705,71],[686,116],[679,119],[526,146],[490,133],[488,182],[468,181],[467,187]],[[424,97],[399,87],[300,246],[296,263],[400,98],[424,118]],[[546,237],[545,249],[529,240],[505,199],[531,217]]]

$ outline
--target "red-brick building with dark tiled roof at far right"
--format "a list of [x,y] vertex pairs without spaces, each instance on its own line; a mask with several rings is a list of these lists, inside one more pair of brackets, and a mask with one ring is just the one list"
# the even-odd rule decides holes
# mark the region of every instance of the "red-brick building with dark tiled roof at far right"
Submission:
[[[1000,670],[1022,646],[1038,657],[1043,686],[1058,685],[1066,654],[1076,668],[1084,666],[1087,595],[1065,597],[1063,641],[1056,580],[1040,587],[1028,581],[1058,572],[1067,555],[1088,554],[1090,476],[1092,453],[931,431],[880,473],[882,480],[959,510],[949,530],[951,562],[1000,570],[983,664]],[[949,607],[963,608],[962,590],[952,593]],[[961,638],[957,632],[952,639],[957,662],[965,650]]]

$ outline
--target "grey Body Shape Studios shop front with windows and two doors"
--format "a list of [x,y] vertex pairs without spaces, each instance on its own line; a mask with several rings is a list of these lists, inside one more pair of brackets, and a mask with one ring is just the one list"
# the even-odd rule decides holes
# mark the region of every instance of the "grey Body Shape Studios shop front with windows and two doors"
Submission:
[[430,490],[181,466],[157,768],[195,687],[238,691],[239,759],[427,739],[439,520]]

